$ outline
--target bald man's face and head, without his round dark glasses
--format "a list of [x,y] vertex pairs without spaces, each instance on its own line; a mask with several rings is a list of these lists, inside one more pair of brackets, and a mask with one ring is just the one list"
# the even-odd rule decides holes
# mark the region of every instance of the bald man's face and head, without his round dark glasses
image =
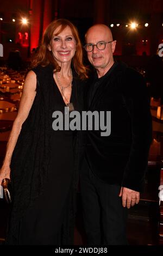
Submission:
[[[87,44],[97,44],[97,42],[103,41],[108,42],[112,41],[112,35],[109,29],[103,26],[93,26],[86,33],[86,43]],[[92,52],[87,52],[87,57],[90,63],[96,69],[110,69],[112,64],[114,63],[112,53],[115,50],[116,41],[110,42],[106,44],[104,50],[98,50],[96,46],[94,46]]]

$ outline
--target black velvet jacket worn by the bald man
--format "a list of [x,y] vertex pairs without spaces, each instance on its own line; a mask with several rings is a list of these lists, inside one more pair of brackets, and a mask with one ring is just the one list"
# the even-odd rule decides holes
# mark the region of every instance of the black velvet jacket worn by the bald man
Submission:
[[[91,90],[99,83],[92,97]],[[90,97],[92,97],[90,102]],[[126,64],[115,63],[102,78],[94,72],[84,92],[86,111],[111,111],[110,136],[86,131],[86,158],[108,184],[141,191],[152,141],[152,118],[145,81]]]

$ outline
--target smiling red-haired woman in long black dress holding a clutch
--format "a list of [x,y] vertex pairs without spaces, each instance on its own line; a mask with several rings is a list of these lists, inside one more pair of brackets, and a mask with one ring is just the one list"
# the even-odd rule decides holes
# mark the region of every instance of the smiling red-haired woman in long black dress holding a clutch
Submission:
[[[7,243],[73,243],[74,190],[77,187],[77,133],[52,129],[54,111],[80,111],[82,45],[68,20],[53,21],[24,83],[20,108],[10,133],[0,184],[14,190]],[[74,161],[76,160],[76,161]]]

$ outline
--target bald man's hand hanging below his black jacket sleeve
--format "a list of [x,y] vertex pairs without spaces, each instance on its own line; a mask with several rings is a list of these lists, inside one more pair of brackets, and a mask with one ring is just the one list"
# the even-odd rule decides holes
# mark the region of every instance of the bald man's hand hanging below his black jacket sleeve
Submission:
[[130,190],[127,187],[121,187],[121,191],[119,197],[122,197],[122,205],[129,209],[131,206],[139,203],[140,200],[140,192],[135,190]]

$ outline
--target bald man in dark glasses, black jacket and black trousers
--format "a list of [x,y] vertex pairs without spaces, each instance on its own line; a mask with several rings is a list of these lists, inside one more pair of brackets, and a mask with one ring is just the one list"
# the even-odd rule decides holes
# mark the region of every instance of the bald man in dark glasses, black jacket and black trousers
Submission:
[[152,141],[147,88],[138,72],[114,62],[116,41],[107,26],[92,26],[85,39],[95,68],[86,110],[111,111],[110,136],[86,132],[80,187],[87,243],[127,245],[127,209],[139,203]]

